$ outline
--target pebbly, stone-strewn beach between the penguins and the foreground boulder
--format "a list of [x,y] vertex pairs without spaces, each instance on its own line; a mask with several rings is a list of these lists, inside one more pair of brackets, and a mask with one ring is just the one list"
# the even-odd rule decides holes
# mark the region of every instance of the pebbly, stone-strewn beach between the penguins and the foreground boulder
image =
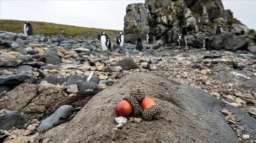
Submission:
[[[130,44],[114,44],[111,51],[105,52],[95,38],[27,37],[4,31],[0,31],[0,49],[0,141],[33,142],[40,132],[73,118],[95,93],[137,72],[201,88],[256,118],[253,52],[192,47],[185,50],[145,42],[142,52]],[[57,108],[59,111],[52,114]],[[73,115],[68,118],[70,113]],[[42,122],[50,116],[50,123]],[[227,122],[235,125],[232,118]],[[241,139],[255,142],[250,139],[256,137],[241,135],[233,128]]]

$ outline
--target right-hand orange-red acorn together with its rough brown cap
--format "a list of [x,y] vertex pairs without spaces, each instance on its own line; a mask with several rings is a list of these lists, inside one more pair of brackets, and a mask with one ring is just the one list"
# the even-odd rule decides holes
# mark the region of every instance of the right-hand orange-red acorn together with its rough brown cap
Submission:
[[144,97],[142,98],[140,104],[144,110],[142,113],[144,120],[159,119],[159,115],[161,114],[161,106],[156,104],[152,98]]

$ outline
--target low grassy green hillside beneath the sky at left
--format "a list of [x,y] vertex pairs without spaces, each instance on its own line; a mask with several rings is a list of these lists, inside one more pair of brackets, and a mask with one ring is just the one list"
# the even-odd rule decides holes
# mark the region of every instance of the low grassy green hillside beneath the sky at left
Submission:
[[[102,32],[107,33],[108,35],[117,35],[119,30],[103,30],[97,28],[84,28],[73,25],[60,25],[55,23],[44,23],[29,21],[33,26],[33,33],[40,35],[67,35],[67,36],[76,36],[76,35],[96,35]],[[0,20],[0,30],[9,31],[13,33],[23,33],[24,21],[14,21],[14,20]],[[60,29],[65,29],[62,32]]]

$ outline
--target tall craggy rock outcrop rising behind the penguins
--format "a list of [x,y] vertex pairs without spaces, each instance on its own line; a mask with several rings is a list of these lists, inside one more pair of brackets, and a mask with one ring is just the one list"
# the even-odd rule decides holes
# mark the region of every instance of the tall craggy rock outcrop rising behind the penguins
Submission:
[[214,35],[220,24],[223,31],[240,33],[249,29],[225,11],[221,0],[145,0],[145,4],[129,4],[124,17],[125,42],[146,37],[150,30],[156,40],[172,42],[184,25],[188,35],[203,32]]

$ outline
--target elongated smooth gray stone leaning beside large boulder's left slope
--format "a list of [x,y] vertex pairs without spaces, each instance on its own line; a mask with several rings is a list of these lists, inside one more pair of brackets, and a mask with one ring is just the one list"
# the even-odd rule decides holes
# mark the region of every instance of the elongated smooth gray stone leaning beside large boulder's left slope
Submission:
[[55,110],[55,112],[50,115],[48,118],[43,120],[41,124],[36,128],[38,132],[43,132],[50,130],[52,127],[60,124],[68,118],[68,115],[73,111],[73,106],[71,105],[62,105],[60,108]]

